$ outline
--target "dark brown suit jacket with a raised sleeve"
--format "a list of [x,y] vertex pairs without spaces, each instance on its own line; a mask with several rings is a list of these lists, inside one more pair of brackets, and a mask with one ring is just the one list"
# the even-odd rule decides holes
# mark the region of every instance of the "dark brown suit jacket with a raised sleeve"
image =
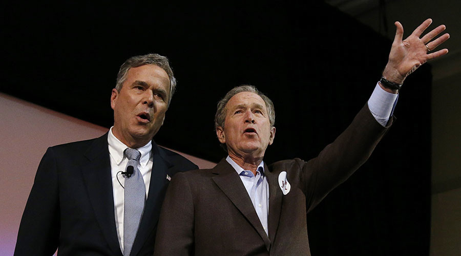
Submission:
[[[225,159],[213,169],[178,173],[163,202],[154,255],[310,255],[306,213],[368,159],[386,131],[365,105],[318,157],[265,165],[269,236]],[[286,195],[278,180],[284,171]]]

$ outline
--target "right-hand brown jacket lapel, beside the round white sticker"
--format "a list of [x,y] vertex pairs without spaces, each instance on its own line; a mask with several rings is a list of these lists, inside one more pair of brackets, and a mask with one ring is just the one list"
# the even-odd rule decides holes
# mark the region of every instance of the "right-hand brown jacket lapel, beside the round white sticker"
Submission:
[[267,225],[269,226],[269,239],[271,243],[274,243],[280,222],[283,193],[279,187],[279,177],[276,173],[272,172],[266,164],[264,164],[264,174],[269,183],[269,216],[267,221]]

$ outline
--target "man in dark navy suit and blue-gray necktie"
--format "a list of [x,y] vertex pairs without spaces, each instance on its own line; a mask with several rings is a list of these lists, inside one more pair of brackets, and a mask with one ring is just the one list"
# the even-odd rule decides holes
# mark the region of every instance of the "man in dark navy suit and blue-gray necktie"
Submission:
[[[171,177],[197,168],[153,140],[175,87],[164,56],[123,63],[112,90],[109,132],[50,147],[41,160],[14,255],[52,255],[56,249],[59,255],[153,254]],[[137,186],[130,183],[134,177]],[[140,196],[128,195],[128,187]]]

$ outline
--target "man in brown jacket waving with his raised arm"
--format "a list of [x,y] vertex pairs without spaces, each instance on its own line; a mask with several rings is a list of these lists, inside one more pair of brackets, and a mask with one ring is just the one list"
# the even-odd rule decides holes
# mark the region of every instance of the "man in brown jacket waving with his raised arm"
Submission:
[[218,102],[216,134],[228,157],[213,169],[177,174],[162,206],[155,255],[310,255],[306,212],[370,156],[392,123],[405,77],[448,39],[426,20],[405,40],[397,32],[383,78],[347,129],[318,157],[263,162],[276,129],[273,103],[252,86]]

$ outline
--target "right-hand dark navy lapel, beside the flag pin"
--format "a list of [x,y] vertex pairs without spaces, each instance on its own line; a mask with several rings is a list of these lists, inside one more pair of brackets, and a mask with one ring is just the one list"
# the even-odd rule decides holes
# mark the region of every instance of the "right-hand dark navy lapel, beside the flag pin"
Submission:
[[152,141],[152,154],[154,155],[154,159],[148,199],[145,202],[144,214],[142,215],[131,255],[136,255],[139,252],[142,245],[148,239],[149,234],[157,225],[160,208],[165,197],[166,187],[169,183],[166,175],[173,177],[173,174],[176,173],[175,166],[168,161],[168,157],[154,141]]

